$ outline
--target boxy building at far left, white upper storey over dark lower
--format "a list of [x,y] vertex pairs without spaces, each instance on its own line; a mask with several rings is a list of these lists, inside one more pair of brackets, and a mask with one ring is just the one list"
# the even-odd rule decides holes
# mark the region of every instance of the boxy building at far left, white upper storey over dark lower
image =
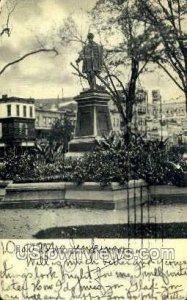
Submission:
[[0,146],[33,146],[35,140],[34,99],[3,95],[0,99],[0,112]]

